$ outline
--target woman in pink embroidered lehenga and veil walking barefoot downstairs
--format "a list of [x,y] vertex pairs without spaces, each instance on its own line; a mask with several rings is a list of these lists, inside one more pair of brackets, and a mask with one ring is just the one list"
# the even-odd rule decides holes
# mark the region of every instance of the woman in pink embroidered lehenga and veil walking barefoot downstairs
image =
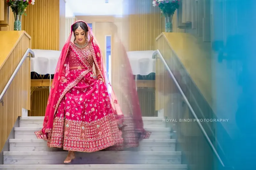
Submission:
[[74,151],[93,152],[122,145],[123,118],[100,48],[90,27],[78,20],[61,51],[43,128],[35,134],[47,140],[49,147],[68,150],[64,161],[68,163],[75,158]]

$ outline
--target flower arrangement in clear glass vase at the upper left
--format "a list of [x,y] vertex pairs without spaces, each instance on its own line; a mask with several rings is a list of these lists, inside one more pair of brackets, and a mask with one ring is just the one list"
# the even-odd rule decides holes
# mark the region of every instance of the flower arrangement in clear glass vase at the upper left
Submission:
[[14,30],[21,30],[21,15],[26,15],[25,11],[28,5],[34,5],[35,0],[6,0],[6,3],[12,9],[14,15]]

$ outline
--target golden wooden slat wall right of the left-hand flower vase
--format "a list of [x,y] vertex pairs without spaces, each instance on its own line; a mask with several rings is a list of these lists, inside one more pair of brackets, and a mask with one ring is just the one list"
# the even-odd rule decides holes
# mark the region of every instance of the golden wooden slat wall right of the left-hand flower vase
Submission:
[[22,16],[21,29],[31,36],[32,49],[59,50],[60,0],[40,0],[29,5],[27,16]]

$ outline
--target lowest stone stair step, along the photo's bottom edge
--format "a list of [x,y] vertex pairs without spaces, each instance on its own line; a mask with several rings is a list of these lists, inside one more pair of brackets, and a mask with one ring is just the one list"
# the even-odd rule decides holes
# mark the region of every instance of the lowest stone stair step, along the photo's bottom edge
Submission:
[[108,165],[0,165],[0,169],[6,170],[62,170],[62,169],[93,169],[93,170],[187,170],[187,165],[127,165],[127,164],[108,164]]

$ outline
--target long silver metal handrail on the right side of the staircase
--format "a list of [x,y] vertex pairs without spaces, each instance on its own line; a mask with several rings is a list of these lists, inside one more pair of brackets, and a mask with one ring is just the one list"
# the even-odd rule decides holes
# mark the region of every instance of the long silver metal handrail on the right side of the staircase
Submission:
[[[160,59],[163,61],[164,66],[167,68],[168,72],[171,74],[173,81],[175,82],[176,86],[177,86],[178,89],[180,90],[180,93],[181,93],[182,97],[184,98],[185,102],[188,104],[188,107],[189,107],[190,111],[192,112],[193,116],[195,117],[196,120],[198,120],[198,118],[197,118],[197,116],[196,116],[196,113],[194,112],[192,106],[191,106],[190,103],[188,102],[187,97],[185,96],[184,92],[183,92],[182,89],[180,88],[180,85],[179,85],[178,81],[175,79],[175,77],[174,77],[174,75],[173,75],[171,69],[170,69],[169,66],[167,65],[167,63],[166,63],[164,57],[162,56],[162,54],[160,53],[160,51],[159,51],[159,50],[156,50],[156,51],[153,53],[153,57],[152,57],[152,58],[156,58],[156,55],[157,55],[157,54],[159,55]],[[202,132],[203,132],[203,134],[204,134],[204,136],[205,136],[205,138],[207,139],[208,143],[210,144],[210,146],[211,146],[213,152],[215,153],[215,155],[216,155],[217,158],[219,159],[221,165],[222,165],[223,167],[225,167],[225,165],[224,165],[223,161],[221,160],[221,158],[220,158],[218,152],[216,151],[215,147],[213,146],[213,144],[212,144],[212,142],[211,142],[209,136],[208,136],[207,133],[205,132],[205,130],[204,130],[202,124],[200,123],[200,121],[196,121],[196,122],[198,123],[200,129],[202,130]]]

